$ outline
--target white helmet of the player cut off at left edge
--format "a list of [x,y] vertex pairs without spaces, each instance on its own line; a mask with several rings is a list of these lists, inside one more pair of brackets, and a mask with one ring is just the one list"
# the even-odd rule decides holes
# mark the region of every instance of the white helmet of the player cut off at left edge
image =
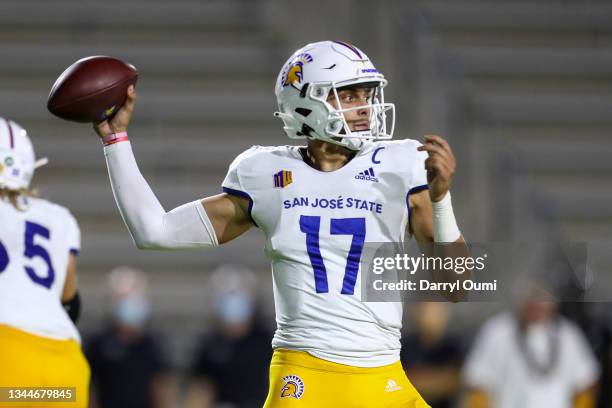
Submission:
[[46,163],[46,158],[34,158],[34,148],[25,129],[0,117],[0,188],[27,189],[34,170]]

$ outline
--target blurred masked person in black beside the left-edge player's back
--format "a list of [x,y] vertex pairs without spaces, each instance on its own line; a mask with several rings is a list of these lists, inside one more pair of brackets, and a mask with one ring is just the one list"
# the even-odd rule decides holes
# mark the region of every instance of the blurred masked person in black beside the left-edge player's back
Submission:
[[174,382],[156,337],[147,328],[147,280],[120,267],[109,274],[111,323],[86,348],[91,407],[162,408],[174,402]]

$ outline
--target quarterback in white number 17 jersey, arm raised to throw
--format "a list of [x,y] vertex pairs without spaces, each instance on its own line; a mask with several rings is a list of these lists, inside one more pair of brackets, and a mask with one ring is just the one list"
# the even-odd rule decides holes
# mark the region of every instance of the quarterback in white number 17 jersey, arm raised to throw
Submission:
[[406,231],[420,243],[463,242],[448,193],[455,158],[438,136],[425,145],[389,140],[386,83],[351,44],[301,48],[278,76],[275,115],[307,146],[253,146],[230,165],[222,194],[170,212],[127,140],[134,89],[95,126],[139,248],[216,246],[252,226],[264,232],[277,320],[266,407],[427,406],[399,363],[401,304],[361,300],[359,261],[364,243],[402,242]]

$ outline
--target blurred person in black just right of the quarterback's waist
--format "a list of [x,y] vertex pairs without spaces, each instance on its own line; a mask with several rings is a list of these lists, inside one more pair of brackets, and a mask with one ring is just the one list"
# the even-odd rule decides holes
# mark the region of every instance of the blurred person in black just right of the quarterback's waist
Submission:
[[432,408],[450,408],[460,390],[462,344],[447,332],[446,303],[415,305],[415,333],[402,337],[406,375]]

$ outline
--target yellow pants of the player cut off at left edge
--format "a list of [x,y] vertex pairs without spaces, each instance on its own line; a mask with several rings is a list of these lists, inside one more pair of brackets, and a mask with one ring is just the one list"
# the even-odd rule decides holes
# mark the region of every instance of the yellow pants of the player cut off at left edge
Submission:
[[76,341],[53,340],[0,325],[0,387],[76,388],[75,402],[5,401],[0,407],[86,408],[89,374]]

